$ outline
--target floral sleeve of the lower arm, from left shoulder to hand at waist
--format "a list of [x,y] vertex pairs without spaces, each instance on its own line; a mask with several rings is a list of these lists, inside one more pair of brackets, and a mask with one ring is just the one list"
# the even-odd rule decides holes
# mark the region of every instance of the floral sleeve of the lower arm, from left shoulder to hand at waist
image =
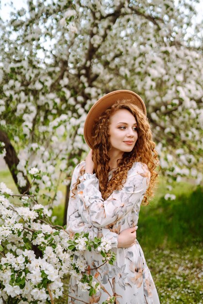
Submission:
[[75,233],[88,232],[89,238],[94,239],[94,237],[106,237],[111,241],[112,247],[118,246],[118,234],[111,232],[108,229],[98,229],[94,227],[91,223],[84,221],[81,217],[81,214],[78,210],[77,205],[77,191],[75,191],[75,195],[72,196],[72,189],[74,188],[74,184],[77,182],[77,178],[79,176],[80,169],[84,165],[84,162],[80,163],[73,171],[72,180],[70,184],[70,198],[68,202],[68,211],[67,211],[67,231],[70,236],[74,236]]

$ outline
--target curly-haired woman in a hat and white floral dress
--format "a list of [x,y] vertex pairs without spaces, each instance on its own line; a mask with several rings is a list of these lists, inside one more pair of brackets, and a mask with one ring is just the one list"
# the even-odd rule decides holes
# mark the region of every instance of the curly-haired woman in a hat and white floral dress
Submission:
[[[67,229],[70,235],[85,231],[91,238],[106,237],[116,261],[97,269],[102,286],[97,296],[80,291],[71,277],[69,303],[81,303],[74,298],[102,303],[115,295],[116,304],[159,304],[136,240],[140,204],[152,195],[158,164],[144,102],[128,90],[103,96],[87,115],[84,136],[91,150],[73,173]],[[84,256],[91,269],[102,264],[100,253]]]

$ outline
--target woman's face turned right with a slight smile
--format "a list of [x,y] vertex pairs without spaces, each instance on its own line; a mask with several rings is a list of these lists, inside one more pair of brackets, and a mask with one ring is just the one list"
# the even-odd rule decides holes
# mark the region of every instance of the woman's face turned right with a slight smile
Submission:
[[137,140],[136,126],[136,119],[128,110],[116,111],[109,124],[111,151],[131,152]]

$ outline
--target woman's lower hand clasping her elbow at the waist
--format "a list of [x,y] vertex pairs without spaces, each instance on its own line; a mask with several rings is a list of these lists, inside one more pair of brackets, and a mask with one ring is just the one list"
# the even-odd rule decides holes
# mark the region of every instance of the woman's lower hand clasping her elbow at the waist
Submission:
[[118,236],[118,248],[128,248],[135,244],[137,226],[121,231]]

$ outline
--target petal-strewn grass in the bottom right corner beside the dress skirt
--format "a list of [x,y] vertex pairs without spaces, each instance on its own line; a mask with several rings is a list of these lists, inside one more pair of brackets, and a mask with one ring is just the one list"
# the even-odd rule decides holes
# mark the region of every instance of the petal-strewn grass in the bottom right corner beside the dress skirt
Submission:
[[202,303],[202,245],[145,253],[161,304]]

